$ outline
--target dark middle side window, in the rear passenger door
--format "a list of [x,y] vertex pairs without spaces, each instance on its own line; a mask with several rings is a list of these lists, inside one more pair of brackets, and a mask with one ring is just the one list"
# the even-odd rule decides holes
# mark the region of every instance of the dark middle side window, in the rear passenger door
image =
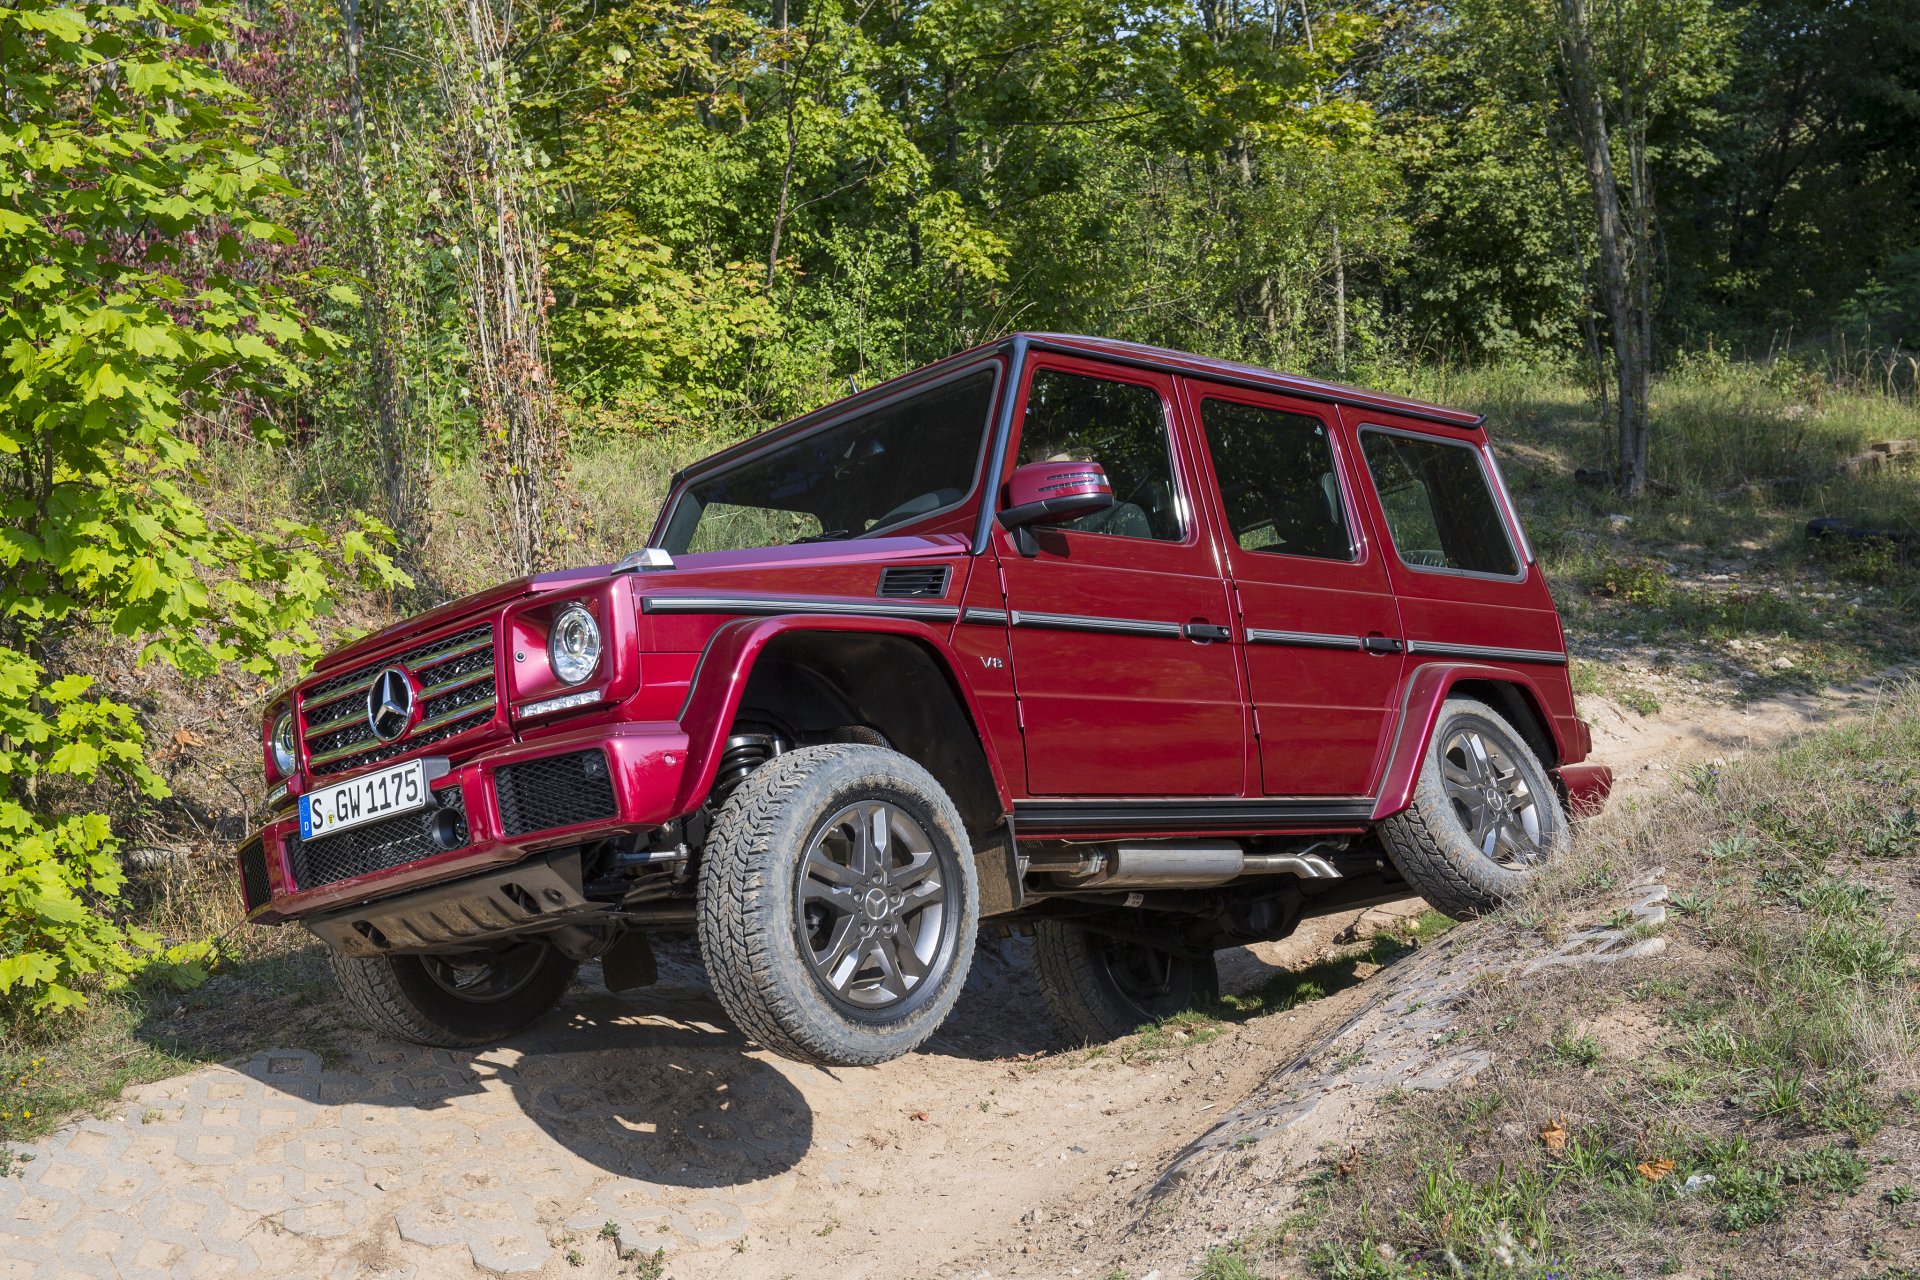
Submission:
[[1244,551],[1354,558],[1325,422],[1208,399],[1200,405],[1200,424],[1227,524]]

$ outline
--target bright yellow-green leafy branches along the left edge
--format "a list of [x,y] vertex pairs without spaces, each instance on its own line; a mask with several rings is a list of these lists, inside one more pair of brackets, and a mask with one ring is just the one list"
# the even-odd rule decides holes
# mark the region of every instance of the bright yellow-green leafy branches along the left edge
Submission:
[[[292,188],[196,50],[230,15],[157,0],[0,10],[0,1002],[48,1011],[204,944],[125,925],[102,793],[156,798],[134,710],[63,670],[90,633],[142,662],[269,676],[311,652],[328,578],[392,581],[378,528],[250,533],[192,497],[190,422],[300,386],[338,338],[257,284]],[[261,422],[271,434],[271,424]]]

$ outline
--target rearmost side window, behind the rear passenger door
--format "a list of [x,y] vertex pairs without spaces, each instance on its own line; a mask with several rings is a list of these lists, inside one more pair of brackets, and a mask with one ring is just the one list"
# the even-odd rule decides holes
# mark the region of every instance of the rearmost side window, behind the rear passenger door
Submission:
[[1359,445],[1402,560],[1501,578],[1519,572],[1473,445],[1380,430],[1363,430]]

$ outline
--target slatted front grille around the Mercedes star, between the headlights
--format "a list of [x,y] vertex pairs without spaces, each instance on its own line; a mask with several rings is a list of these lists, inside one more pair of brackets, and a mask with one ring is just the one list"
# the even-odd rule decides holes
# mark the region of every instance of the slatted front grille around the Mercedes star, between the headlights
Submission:
[[[382,743],[367,723],[367,689],[390,666],[403,666],[413,674],[420,706],[411,733]],[[492,624],[328,676],[300,691],[307,725],[307,771],[344,773],[444,743],[490,722],[497,699]]]

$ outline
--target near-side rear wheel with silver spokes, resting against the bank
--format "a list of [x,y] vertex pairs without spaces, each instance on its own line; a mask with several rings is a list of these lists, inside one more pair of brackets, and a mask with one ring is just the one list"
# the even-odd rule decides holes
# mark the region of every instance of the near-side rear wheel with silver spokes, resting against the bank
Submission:
[[1448,699],[1413,789],[1380,842],[1423,898],[1465,919],[1500,906],[1567,839],[1567,810],[1526,739],[1475,699]]

